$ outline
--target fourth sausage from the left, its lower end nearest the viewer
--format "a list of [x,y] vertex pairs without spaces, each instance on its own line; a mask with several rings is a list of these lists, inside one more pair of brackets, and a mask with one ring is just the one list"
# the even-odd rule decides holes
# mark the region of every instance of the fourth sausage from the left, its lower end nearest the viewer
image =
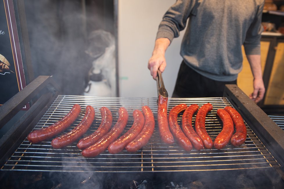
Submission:
[[118,109],[118,114],[118,120],[113,128],[98,142],[82,151],[82,155],[84,157],[96,157],[100,153],[104,152],[107,147],[122,133],[128,121],[128,112],[124,107],[121,107]]

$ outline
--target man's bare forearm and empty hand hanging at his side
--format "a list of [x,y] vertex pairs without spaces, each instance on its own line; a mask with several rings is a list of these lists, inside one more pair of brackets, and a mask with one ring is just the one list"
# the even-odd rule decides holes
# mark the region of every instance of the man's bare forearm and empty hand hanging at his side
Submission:
[[261,59],[259,54],[247,55],[251,72],[254,76],[254,91],[249,95],[250,99],[258,103],[264,97],[265,87],[262,78]]

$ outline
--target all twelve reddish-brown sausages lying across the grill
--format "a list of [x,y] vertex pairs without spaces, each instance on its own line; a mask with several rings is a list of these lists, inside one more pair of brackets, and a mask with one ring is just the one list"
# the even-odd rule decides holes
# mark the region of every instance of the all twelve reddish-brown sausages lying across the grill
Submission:
[[[216,149],[222,149],[229,142],[233,146],[240,146],[246,140],[247,130],[244,121],[240,114],[232,107],[227,106],[224,109],[217,110],[218,116],[223,121],[223,128],[213,142],[205,128],[206,115],[213,109],[210,103],[206,103],[200,108],[197,104],[190,106],[179,104],[173,107],[169,113],[167,111],[167,103],[168,98],[159,96],[158,128],[161,140],[166,144],[172,144],[176,140],[184,150],[190,151],[193,147],[197,150],[204,148],[211,149],[213,146]],[[180,127],[177,117],[182,111],[184,113]],[[28,140],[31,143],[38,143],[57,136],[77,119],[80,112],[81,106],[75,104],[67,115],[53,125],[30,132]],[[197,115],[194,130],[192,117],[195,112],[197,112]],[[77,147],[82,150],[82,155],[85,157],[96,157],[106,149],[112,154],[121,152],[123,149],[126,149],[128,152],[135,152],[148,143],[154,132],[154,116],[148,106],[143,106],[142,112],[140,110],[133,111],[133,125],[121,137],[119,136],[128,121],[127,110],[124,107],[119,108],[118,120],[112,128],[111,111],[106,107],[101,107],[100,113],[102,121],[98,129],[91,135],[80,139],[90,128],[95,117],[94,108],[87,106],[82,121],[70,132],[53,139],[51,141],[52,147],[55,149],[63,148],[80,139]],[[233,135],[234,125],[236,132]]]

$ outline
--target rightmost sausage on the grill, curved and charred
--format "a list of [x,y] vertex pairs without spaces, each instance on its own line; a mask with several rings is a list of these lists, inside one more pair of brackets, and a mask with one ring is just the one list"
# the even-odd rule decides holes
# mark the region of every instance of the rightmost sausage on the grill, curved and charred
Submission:
[[236,128],[235,134],[233,134],[233,136],[231,137],[231,144],[233,146],[240,146],[247,139],[247,128],[245,126],[244,120],[242,119],[242,116],[239,114],[239,112],[234,108],[226,106],[224,110],[226,110],[230,114]]

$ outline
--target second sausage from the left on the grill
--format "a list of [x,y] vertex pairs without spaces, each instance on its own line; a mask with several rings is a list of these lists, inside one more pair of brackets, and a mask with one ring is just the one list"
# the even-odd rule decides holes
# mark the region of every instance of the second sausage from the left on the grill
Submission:
[[72,142],[79,139],[82,135],[87,132],[87,130],[90,128],[94,121],[95,117],[95,110],[92,106],[86,107],[86,113],[83,117],[82,121],[70,132],[67,132],[66,134],[56,137],[51,141],[51,146],[55,149],[65,147]]

